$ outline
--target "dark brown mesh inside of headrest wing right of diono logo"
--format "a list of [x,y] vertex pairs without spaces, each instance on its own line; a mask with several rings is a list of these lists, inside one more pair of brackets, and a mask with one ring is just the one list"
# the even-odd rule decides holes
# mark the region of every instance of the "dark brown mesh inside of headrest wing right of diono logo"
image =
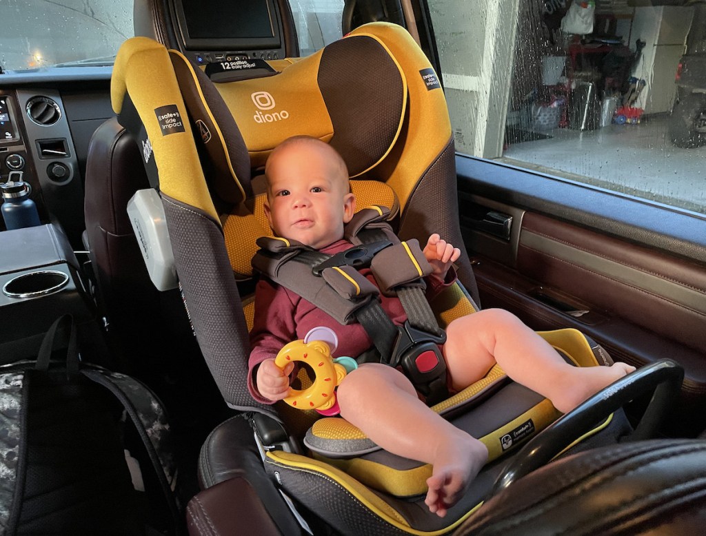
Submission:
[[333,123],[330,144],[356,176],[395,140],[405,102],[399,68],[375,39],[347,37],[323,50],[318,86]]

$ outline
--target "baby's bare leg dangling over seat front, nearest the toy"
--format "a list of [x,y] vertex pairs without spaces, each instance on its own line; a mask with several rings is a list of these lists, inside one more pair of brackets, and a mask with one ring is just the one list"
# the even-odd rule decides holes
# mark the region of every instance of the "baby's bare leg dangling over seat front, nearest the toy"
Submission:
[[341,416],[386,451],[431,463],[429,510],[445,516],[488,458],[488,449],[419,400],[407,377],[388,365],[354,370],[338,387]]

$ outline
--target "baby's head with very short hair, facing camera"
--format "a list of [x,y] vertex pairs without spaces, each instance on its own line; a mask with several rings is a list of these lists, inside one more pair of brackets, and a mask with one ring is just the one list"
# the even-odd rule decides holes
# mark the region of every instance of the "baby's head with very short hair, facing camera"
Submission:
[[295,136],[265,164],[265,215],[277,236],[321,249],[343,238],[355,212],[348,169],[328,143]]

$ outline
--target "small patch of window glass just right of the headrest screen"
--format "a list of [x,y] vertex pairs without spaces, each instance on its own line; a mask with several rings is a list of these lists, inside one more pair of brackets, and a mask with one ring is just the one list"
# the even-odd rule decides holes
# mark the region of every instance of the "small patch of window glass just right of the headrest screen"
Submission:
[[299,54],[308,56],[340,39],[343,0],[290,0]]

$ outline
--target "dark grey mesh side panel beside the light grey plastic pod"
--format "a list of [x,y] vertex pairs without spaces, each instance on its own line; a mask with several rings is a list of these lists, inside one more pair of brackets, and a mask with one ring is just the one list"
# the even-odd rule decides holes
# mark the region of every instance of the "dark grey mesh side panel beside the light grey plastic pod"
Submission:
[[220,226],[165,195],[162,205],[186,307],[223,398],[234,407],[269,411],[247,389],[248,330]]

